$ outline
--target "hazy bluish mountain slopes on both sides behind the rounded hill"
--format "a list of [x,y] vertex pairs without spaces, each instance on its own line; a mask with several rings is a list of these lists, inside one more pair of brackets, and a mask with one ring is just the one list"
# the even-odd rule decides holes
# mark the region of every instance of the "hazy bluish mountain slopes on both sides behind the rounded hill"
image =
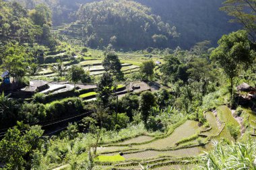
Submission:
[[[75,22],[75,13],[82,3],[90,3],[97,0],[17,0],[26,7],[32,8],[37,3],[47,3],[53,10],[53,25]],[[152,13],[160,15],[162,20],[170,26],[176,26],[179,38],[168,43],[168,47],[191,48],[196,42],[210,40],[216,45],[223,34],[238,30],[237,24],[228,23],[230,17],[219,10],[224,0],[134,0],[152,9]],[[102,28],[101,32],[105,32]],[[113,32],[118,34],[118,32]],[[153,46],[153,45],[151,45]],[[137,46],[143,48],[144,46]]]

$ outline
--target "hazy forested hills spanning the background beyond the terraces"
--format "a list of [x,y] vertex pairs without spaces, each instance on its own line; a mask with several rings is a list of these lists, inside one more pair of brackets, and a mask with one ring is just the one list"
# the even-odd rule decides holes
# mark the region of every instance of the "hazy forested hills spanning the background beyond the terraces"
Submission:
[[[120,48],[125,48],[126,50],[129,48],[138,50],[145,48],[145,46],[158,48],[164,48],[166,46],[175,48],[180,46],[181,48],[189,49],[195,45],[195,43],[203,40],[209,40],[212,42],[212,45],[216,46],[218,39],[220,39],[223,34],[227,34],[228,32],[240,28],[237,24],[228,23],[230,17],[219,10],[219,8],[222,7],[224,0],[137,0],[137,3],[133,3],[134,1],[113,0],[107,0],[104,1],[104,3],[102,1],[94,3],[97,1],[92,0],[18,0],[18,2],[28,9],[33,9],[40,3],[49,5],[53,11],[53,26],[76,22],[77,19],[81,19],[81,17],[90,18],[91,15],[88,15],[89,13],[96,14],[96,11],[91,9],[99,10],[100,7],[102,7],[100,13],[97,15],[101,15],[103,20],[93,20],[89,26],[85,21],[79,23],[86,24],[86,28],[81,27],[78,32],[67,28],[67,31],[72,36],[86,34],[84,42],[94,48],[97,48],[98,45],[108,46],[113,40],[114,46],[119,50]],[[113,8],[113,3],[121,3],[122,8]],[[83,5],[81,6],[81,4]],[[86,7],[87,10],[89,10],[88,13],[81,13],[83,7]],[[123,9],[125,8],[131,10],[137,8],[137,13],[129,13],[131,12],[129,10],[124,11]],[[108,9],[113,9],[110,10],[113,11],[113,15],[107,15]],[[126,17],[122,14],[123,12],[126,13]],[[143,13],[143,15],[137,15],[139,13]],[[137,18],[138,23],[135,18],[129,19],[127,17],[129,15],[137,16],[135,18]],[[147,15],[153,16],[153,20],[149,20]],[[113,20],[112,18],[112,22],[110,22],[111,18],[108,17],[114,17],[115,19]],[[134,26],[131,26],[130,22],[126,22],[124,26],[122,21],[127,20],[131,20]],[[99,28],[98,25],[102,27]],[[173,28],[176,28],[175,31],[177,31],[177,34],[174,37],[170,36],[170,30],[172,31]],[[90,29],[93,29],[94,32],[90,32]],[[108,35],[109,32],[111,32],[111,36]],[[131,34],[131,36],[127,34]],[[138,37],[137,35],[141,36]],[[154,38],[152,38],[152,36],[154,36]],[[113,39],[110,40],[110,38]],[[136,38],[138,38],[138,40]],[[139,38],[143,38],[145,41],[141,42],[139,41]],[[101,44],[98,42],[101,42]]]

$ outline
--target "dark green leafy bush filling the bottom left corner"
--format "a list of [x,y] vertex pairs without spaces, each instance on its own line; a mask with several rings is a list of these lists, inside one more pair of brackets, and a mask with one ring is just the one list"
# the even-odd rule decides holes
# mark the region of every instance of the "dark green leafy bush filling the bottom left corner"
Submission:
[[17,127],[9,129],[0,142],[0,159],[5,163],[5,169],[30,169],[33,150],[40,148],[40,137],[43,130],[40,126],[32,126],[25,132]]

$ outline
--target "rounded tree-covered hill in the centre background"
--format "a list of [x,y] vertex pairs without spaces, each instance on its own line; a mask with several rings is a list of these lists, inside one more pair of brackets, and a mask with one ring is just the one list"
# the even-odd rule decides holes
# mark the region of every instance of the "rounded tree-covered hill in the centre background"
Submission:
[[[94,11],[95,7],[98,12]],[[79,24],[84,26],[84,30],[79,29],[79,35],[84,34],[86,44],[92,48],[108,44],[126,49],[146,48],[149,45],[162,47],[167,46],[167,40],[177,35],[175,28],[153,15],[150,8],[134,1],[86,3],[79,7],[77,17]],[[77,35],[72,27],[71,25],[68,30]]]

